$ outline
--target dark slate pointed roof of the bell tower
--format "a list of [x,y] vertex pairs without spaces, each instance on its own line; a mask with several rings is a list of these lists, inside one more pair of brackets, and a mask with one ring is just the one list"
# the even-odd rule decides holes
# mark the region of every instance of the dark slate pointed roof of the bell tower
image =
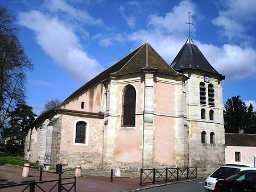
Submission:
[[201,70],[221,76],[221,74],[209,64],[207,59],[205,59],[203,53],[201,53],[190,37],[180,49],[174,61],[172,61],[171,66],[178,72],[184,69]]

